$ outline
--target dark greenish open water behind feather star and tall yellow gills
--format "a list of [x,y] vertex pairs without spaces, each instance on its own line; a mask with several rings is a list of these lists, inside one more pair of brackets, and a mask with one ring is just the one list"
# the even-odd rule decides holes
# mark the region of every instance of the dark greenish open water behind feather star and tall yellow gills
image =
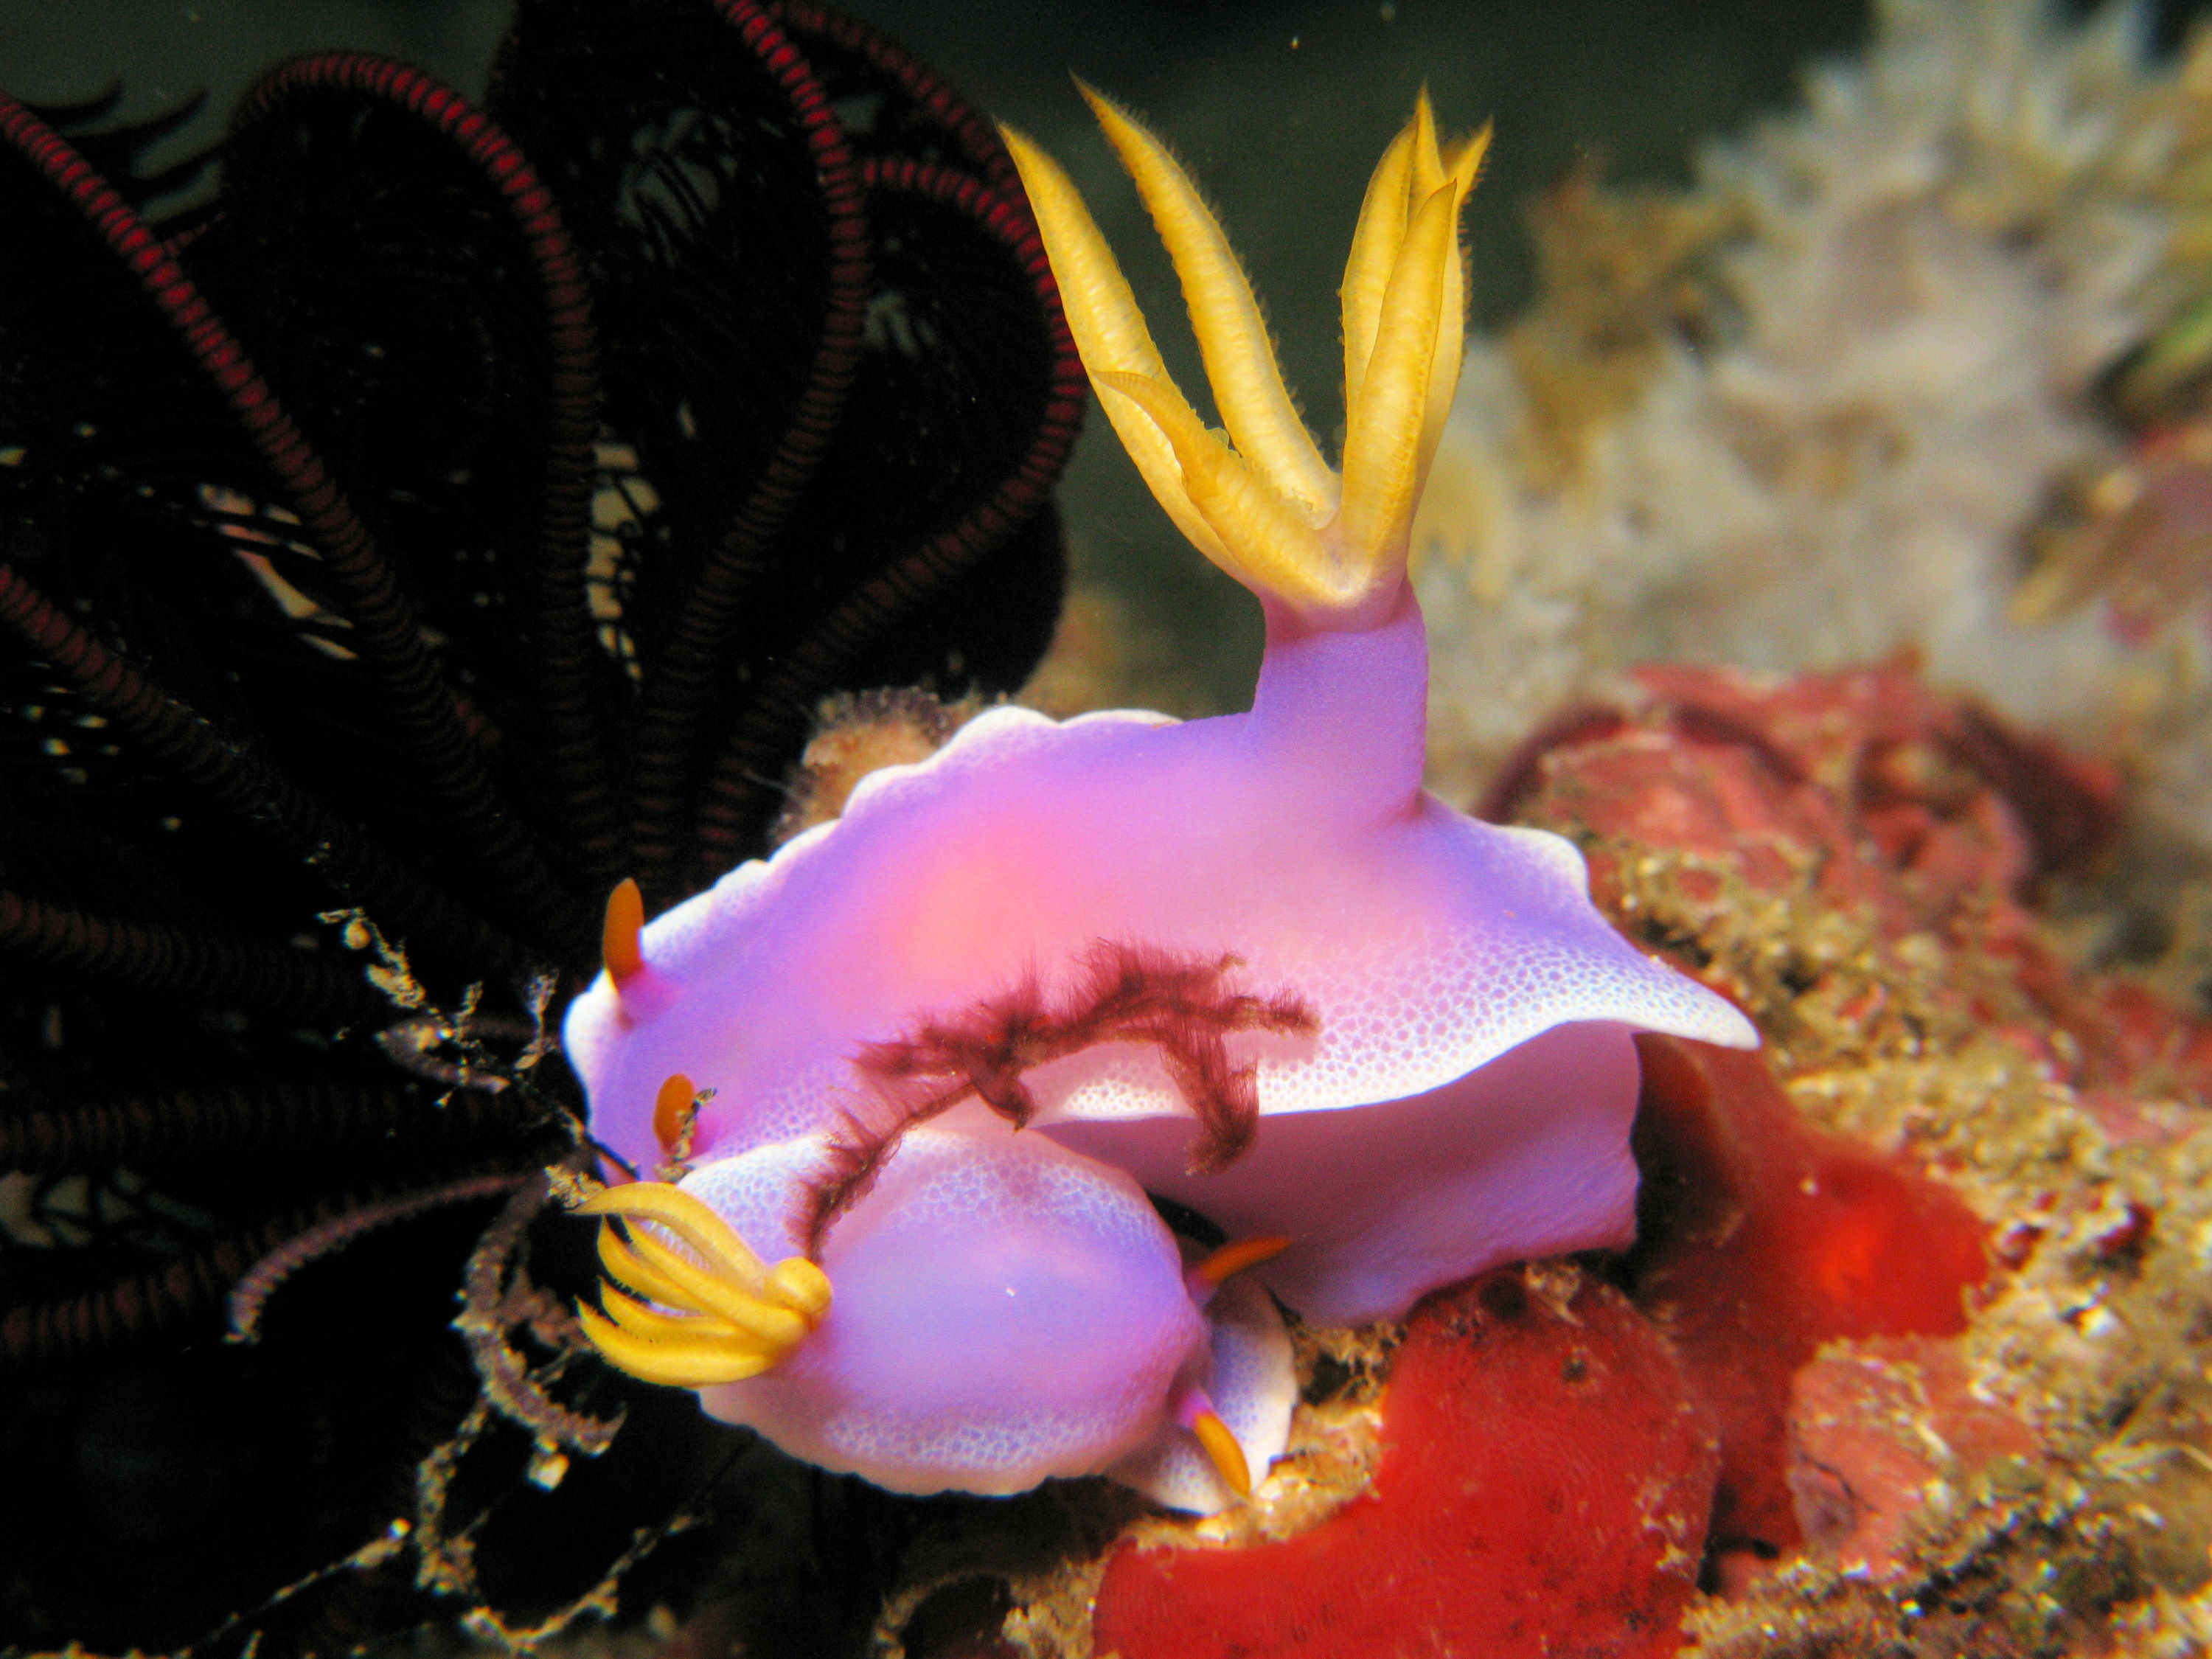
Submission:
[[[1966,0],[1962,0],[1966,2]],[[2033,2],[2033,0],[2024,0]],[[2168,0],[2179,35],[2205,0]],[[1336,283],[1367,170],[1429,84],[1440,119],[1495,119],[1467,232],[1473,321],[1531,290],[1522,208],[1584,159],[1626,181],[1683,181],[1697,148],[1787,108],[1801,69],[1847,55],[1867,0],[849,0],[978,106],[1062,157],[1119,250],[1170,367],[1197,389],[1166,259],[1068,84],[1115,93],[1177,146],[1221,208],[1267,305],[1310,425],[1340,429]],[[206,142],[268,66],[314,49],[389,53],[480,91],[507,0],[0,0],[0,86],[126,111],[195,91]],[[1203,405],[1203,396],[1199,398]],[[1259,617],[1144,495],[1104,420],[1064,487],[1079,573],[1110,582],[1197,672],[1192,708],[1250,686]]]

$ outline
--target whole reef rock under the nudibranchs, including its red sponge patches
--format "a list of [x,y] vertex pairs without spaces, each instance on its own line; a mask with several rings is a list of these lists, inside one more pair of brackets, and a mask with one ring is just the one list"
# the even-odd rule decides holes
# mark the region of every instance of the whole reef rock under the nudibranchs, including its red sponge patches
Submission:
[[1641,1040],[1639,1243],[1301,1329],[1252,1504],[909,1652],[2192,1652],[2212,1024],[2035,907],[2115,776],[1902,664],[1668,668],[1491,807],[1767,1033]]

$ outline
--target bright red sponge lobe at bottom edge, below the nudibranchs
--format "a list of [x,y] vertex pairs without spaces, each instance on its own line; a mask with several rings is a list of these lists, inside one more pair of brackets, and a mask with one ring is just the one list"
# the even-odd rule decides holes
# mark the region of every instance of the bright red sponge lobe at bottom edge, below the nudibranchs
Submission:
[[1279,1544],[1124,1546],[1097,1650],[1672,1655],[1714,1469],[1712,1418],[1619,1292],[1584,1279],[1557,1310],[1500,1270],[1413,1312],[1363,1498]]

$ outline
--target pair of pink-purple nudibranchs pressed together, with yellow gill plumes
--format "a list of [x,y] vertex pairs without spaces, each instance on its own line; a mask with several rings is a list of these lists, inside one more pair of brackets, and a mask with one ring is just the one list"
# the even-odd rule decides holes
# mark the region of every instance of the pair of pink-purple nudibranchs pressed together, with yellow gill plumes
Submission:
[[[584,1206],[626,1221],[584,1318],[624,1369],[894,1491],[1104,1471],[1212,1511],[1287,1436],[1267,1292],[1336,1325],[1626,1243],[1630,1033],[1756,1037],[1599,918],[1566,841],[1420,790],[1405,557],[1486,135],[1440,148],[1422,102],[1376,170],[1336,473],[1197,190],[1091,102],[1225,434],[1170,383],[1066,175],[1006,142],[1099,403],[1265,606],[1252,710],[995,708],[641,933],[617,894],[568,1057],[593,1133],[681,1175]],[[1148,1194],[1230,1243],[1201,1254]]]

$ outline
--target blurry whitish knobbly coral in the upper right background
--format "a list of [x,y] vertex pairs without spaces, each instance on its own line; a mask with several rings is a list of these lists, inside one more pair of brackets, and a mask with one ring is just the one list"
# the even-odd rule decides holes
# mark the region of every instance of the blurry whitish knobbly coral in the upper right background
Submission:
[[[1743,232],[1703,354],[1540,482],[1500,341],[1469,345],[1422,604],[1436,781],[1471,790],[1553,708],[1646,659],[1756,670],[1922,653],[1938,684],[2143,761],[2212,843],[2205,617],[2148,648],[2095,611],[2017,628],[2024,531],[2117,438],[2086,389],[2172,314],[2190,104],[2139,15],[1887,0],[1869,55],[1701,159]],[[2201,119],[2201,113],[2199,113]]]

